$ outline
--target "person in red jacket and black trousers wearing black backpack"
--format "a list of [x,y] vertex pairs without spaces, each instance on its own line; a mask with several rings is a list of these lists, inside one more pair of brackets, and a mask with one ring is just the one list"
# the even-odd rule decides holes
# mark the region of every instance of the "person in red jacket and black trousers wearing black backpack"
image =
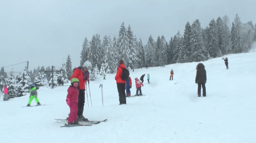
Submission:
[[121,76],[123,73],[123,68],[126,68],[124,65],[124,61],[121,59],[119,61],[119,67],[117,70],[117,75],[115,76],[115,80],[117,81],[117,88],[119,93],[119,105],[126,104],[126,94],[125,94],[125,84],[126,81],[122,80]]

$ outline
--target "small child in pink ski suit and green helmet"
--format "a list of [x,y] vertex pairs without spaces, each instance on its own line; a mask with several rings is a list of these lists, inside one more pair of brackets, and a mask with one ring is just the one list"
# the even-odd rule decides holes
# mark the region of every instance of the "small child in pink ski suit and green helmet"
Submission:
[[79,80],[78,78],[72,78],[71,85],[67,90],[67,105],[70,108],[68,117],[68,125],[80,125],[77,122],[77,111],[78,111],[78,94],[79,94]]

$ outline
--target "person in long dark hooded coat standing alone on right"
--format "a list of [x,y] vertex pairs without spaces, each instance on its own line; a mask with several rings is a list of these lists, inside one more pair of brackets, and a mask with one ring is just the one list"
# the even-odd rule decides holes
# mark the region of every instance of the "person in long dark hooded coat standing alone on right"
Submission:
[[195,83],[198,84],[198,90],[197,90],[197,95],[198,97],[201,97],[201,86],[203,89],[203,96],[206,96],[206,89],[205,89],[205,84],[206,84],[206,70],[204,69],[204,65],[202,63],[199,63],[196,66],[196,78],[195,78]]

